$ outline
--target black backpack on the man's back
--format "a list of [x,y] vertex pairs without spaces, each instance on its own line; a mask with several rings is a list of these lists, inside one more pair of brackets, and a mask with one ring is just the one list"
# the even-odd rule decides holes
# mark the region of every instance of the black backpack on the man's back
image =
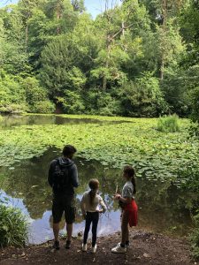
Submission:
[[70,178],[69,178],[69,169],[70,166],[61,165],[57,159],[55,165],[55,170],[52,174],[53,179],[53,191],[54,192],[64,192],[70,188]]

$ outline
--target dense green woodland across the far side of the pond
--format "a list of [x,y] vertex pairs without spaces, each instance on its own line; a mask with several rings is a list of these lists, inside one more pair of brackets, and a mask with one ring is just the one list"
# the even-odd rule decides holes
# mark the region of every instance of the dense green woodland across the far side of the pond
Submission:
[[0,9],[0,112],[198,117],[199,2],[20,0]]

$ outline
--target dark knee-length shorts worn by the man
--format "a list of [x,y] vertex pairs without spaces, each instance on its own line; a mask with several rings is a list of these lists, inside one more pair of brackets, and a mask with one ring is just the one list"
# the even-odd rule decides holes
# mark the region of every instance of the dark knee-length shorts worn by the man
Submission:
[[65,212],[65,222],[72,224],[75,222],[76,208],[73,198],[64,195],[53,196],[52,216],[53,223],[59,223]]

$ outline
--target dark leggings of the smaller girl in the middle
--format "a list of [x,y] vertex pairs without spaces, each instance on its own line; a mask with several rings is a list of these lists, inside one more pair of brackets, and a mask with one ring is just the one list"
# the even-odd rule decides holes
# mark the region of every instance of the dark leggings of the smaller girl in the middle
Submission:
[[96,245],[96,230],[99,221],[99,213],[87,212],[86,226],[84,231],[84,244],[87,244],[88,232],[90,230],[90,224],[92,223],[92,246]]

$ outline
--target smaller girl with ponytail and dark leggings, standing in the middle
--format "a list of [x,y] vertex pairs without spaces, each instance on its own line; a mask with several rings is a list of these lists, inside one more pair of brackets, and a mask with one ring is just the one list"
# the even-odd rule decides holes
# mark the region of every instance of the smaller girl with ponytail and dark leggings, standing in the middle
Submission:
[[[91,179],[88,183],[90,190],[83,194],[80,201],[80,208],[85,223],[84,238],[82,244],[82,251],[87,251],[88,232],[90,230],[90,224],[92,223],[92,253],[96,253],[96,231],[99,221],[99,214],[106,211],[106,206],[103,202],[103,198],[98,194],[99,181],[97,179]],[[101,205],[101,208],[99,206]]]

